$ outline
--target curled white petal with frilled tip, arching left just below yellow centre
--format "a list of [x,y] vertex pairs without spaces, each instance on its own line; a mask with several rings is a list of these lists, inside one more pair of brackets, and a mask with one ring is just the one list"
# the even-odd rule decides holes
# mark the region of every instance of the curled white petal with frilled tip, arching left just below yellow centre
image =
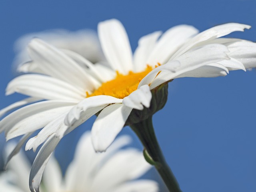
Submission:
[[105,104],[122,103],[122,99],[118,99],[112,96],[99,95],[85,98],[76,106],[74,106],[65,118],[65,124],[71,125],[73,119],[78,120],[82,111],[86,111],[88,108],[102,106]]

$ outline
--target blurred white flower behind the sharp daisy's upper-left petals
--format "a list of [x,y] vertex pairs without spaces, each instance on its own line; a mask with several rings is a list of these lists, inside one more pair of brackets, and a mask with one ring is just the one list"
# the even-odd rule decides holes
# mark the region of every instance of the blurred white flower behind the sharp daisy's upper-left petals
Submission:
[[72,32],[64,29],[54,29],[26,34],[16,40],[14,44],[14,51],[16,52],[14,58],[15,70],[18,69],[20,72],[30,71],[28,67],[32,66],[25,63],[31,60],[27,46],[33,38],[41,38],[60,50],[76,52],[92,63],[105,60],[98,36],[94,30],[85,29]]

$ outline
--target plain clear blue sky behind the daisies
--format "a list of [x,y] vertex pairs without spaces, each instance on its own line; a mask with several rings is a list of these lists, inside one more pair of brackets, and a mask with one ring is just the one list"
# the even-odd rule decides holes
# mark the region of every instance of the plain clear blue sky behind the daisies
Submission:
[[[132,49],[156,30],[190,24],[200,31],[226,22],[252,26],[229,37],[256,41],[255,0],[0,0],[0,108],[21,98],[4,96],[14,78],[14,41],[30,32],[53,28],[79,30],[117,18],[125,26]],[[166,160],[184,192],[256,191],[256,71],[232,71],[219,78],[181,78],[169,84],[168,102],[154,115],[156,135]],[[56,155],[66,167],[86,122],[62,140]],[[142,148],[134,137],[134,146]],[[4,137],[0,136],[4,145]],[[33,154],[30,152],[30,156]],[[154,178],[154,170],[150,172]]]

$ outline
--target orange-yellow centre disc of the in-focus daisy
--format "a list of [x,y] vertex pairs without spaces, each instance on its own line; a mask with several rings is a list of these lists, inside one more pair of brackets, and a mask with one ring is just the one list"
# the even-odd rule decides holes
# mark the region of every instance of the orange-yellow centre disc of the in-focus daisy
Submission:
[[86,97],[108,95],[119,99],[123,99],[135,90],[137,90],[140,81],[150,71],[152,71],[152,69],[153,68],[151,66],[147,66],[147,68],[143,72],[134,73],[130,71],[127,75],[120,74],[117,71],[115,79],[102,83],[102,85],[92,94],[87,93]]

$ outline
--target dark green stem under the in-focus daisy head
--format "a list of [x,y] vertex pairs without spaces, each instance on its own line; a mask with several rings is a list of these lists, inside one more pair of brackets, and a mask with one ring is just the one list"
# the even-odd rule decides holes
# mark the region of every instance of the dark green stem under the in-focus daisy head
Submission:
[[[166,160],[162,154],[162,150],[156,139],[154,127],[152,124],[152,116],[149,116],[146,120],[130,125],[132,130],[140,138],[140,141],[144,145],[144,157],[152,165],[164,180],[168,190],[170,192],[181,192],[180,186],[172,173],[172,170],[166,163]],[[148,156],[149,155],[149,156]],[[150,159],[150,160],[149,160]]]

